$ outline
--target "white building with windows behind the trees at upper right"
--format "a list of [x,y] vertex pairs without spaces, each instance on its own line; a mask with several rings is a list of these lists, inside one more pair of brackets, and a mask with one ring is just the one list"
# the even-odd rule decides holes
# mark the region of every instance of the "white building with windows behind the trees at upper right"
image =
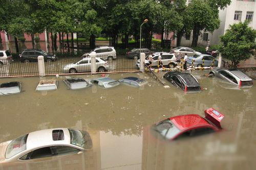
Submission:
[[[206,46],[208,44],[220,44],[220,36],[224,35],[229,25],[244,21],[245,19],[251,20],[249,26],[256,29],[256,18],[253,17],[256,11],[256,0],[232,0],[231,4],[224,10],[219,11],[219,18],[221,20],[219,29],[213,33],[200,32],[198,37],[198,45]],[[190,0],[187,0],[187,4]],[[192,43],[193,32],[190,35],[185,35],[181,39],[181,45],[189,46]]]

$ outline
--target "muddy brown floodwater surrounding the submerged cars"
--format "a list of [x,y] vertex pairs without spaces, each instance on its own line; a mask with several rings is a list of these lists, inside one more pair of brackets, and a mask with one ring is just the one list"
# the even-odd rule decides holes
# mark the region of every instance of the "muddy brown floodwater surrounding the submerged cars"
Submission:
[[[106,76],[146,79],[149,83],[142,88],[119,85],[68,90],[62,82],[67,77],[61,76],[53,77],[59,81],[58,90],[36,92],[38,77],[0,79],[0,83],[20,81],[24,90],[0,96],[0,142],[60,127],[87,130],[93,141],[93,148],[83,154],[42,162],[2,163],[0,169],[253,169],[255,81],[253,87],[239,90],[218,78],[204,77],[207,72],[193,72],[204,90],[187,94],[168,82],[170,88],[165,89],[147,74],[137,73]],[[203,116],[210,107],[225,115],[224,130],[219,133],[168,142],[149,129],[170,116]]]

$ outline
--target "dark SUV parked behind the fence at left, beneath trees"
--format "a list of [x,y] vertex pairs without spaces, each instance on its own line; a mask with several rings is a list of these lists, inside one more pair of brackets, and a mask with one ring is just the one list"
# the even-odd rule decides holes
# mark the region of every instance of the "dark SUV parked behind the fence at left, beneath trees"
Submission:
[[27,49],[22,52],[22,54],[19,55],[20,62],[37,62],[38,56],[44,56],[45,61],[57,61],[57,57],[55,55],[46,53],[44,50],[32,50]]

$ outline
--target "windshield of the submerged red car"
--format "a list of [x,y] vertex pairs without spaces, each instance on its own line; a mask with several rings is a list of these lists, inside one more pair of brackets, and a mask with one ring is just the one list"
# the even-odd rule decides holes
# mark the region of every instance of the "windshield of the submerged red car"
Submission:
[[165,119],[158,123],[156,130],[166,139],[172,139],[180,132],[180,130],[170,121],[170,119]]

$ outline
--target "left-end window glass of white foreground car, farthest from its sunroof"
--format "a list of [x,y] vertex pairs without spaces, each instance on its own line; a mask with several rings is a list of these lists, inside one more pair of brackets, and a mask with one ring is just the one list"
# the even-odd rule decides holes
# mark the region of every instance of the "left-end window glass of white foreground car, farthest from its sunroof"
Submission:
[[7,147],[5,157],[8,159],[22,151],[25,151],[27,149],[27,138],[28,134],[12,140]]

